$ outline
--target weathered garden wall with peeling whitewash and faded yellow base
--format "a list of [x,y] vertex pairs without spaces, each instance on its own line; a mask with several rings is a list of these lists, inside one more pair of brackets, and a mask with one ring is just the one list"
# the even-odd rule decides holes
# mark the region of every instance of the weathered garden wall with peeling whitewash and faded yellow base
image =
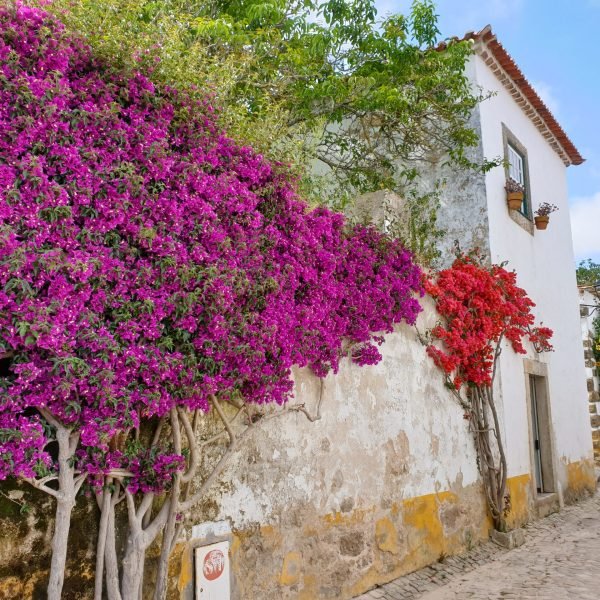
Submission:
[[[436,320],[425,304],[421,332]],[[170,598],[193,598],[193,551],[214,537],[211,528],[224,527],[231,542],[233,600],[345,600],[487,539],[491,524],[468,422],[417,330],[398,327],[381,351],[379,365],[344,362],[323,381],[295,374],[293,402],[314,412],[321,399],[322,418],[311,423],[289,413],[246,439],[184,523]],[[203,430],[210,428],[208,416]],[[566,498],[593,489],[587,465],[567,467]],[[530,473],[513,474],[508,488],[511,525],[539,514]],[[0,598],[44,598],[53,504],[23,486],[1,489]],[[33,507],[26,514],[23,501]],[[67,600],[93,596],[97,518],[80,498]],[[150,573],[156,551],[148,553]],[[150,580],[144,597],[151,592]]]

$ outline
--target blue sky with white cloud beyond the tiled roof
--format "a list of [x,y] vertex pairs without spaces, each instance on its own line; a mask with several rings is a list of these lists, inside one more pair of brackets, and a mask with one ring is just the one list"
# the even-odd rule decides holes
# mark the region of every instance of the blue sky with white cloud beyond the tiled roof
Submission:
[[[379,16],[409,0],[377,0]],[[586,159],[567,169],[577,261],[600,262],[600,0],[437,0],[442,37],[490,24]],[[551,202],[551,200],[549,200]]]

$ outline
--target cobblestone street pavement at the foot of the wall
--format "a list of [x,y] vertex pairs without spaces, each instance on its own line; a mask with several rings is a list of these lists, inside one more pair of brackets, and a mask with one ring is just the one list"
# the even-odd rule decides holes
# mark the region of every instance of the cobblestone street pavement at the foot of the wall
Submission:
[[600,600],[600,493],[525,531],[520,548],[488,542],[356,600]]

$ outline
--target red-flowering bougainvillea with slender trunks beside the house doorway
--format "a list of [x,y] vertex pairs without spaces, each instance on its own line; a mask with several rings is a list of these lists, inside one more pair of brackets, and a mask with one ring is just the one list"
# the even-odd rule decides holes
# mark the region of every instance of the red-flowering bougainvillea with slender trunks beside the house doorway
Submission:
[[[477,253],[460,254],[453,265],[425,278],[441,322],[432,329],[427,353],[443,371],[475,436],[479,469],[494,525],[506,529],[506,457],[494,400],[494,378],[504,342],[518,354],[552,350],[552,330],[536,327],[534,302],[517,285],[514,271],[488,265]],[[493,435],[491,435],[493,433]]]

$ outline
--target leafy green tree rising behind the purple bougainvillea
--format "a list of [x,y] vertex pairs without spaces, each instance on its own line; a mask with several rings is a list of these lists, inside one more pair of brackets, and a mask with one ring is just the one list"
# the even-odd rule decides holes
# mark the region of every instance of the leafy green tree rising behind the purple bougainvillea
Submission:
[[[373,0],[54,0],[97,51],[153,66],[163,83],[209,90],[226,130],[288,163],[312,204],[344,208],[389,189],[406,199],[405,240],[434,254],[430,163],[475,165],[465,75],[471,45],[437,47],[432,0],[377,17]],[[429,174],[429,177],[431,175]],[[434,186],[435,187],[435,186]]]

